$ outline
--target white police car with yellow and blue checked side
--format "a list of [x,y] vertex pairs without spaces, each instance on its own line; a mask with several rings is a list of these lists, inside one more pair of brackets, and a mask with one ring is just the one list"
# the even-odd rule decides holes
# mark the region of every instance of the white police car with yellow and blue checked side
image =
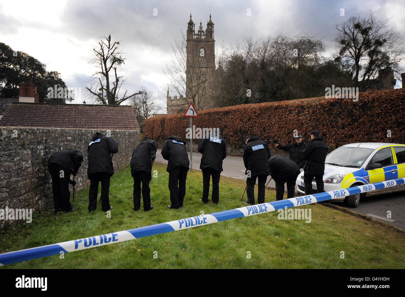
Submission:
[[[302,169],[301,169],[302,170]],[[358,185],[405,177],[405,145],[396,143],[350,143],[326,156],[324,191],[340,190]],[[305,194],[304,172],[296,180],[298,195]],[[312,188],[316,190],[315,179]],[[357,207],[360,197],[405,190],[405,185],[342,197],[341,201]]]

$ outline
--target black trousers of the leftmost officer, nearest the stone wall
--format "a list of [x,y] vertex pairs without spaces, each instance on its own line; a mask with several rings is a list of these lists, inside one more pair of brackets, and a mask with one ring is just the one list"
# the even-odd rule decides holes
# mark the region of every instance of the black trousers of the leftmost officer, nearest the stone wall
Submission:
[[[52,177],[53,205],[55,211],[70,211],[72,205],[69,201],[69,171],[56,163],[49,164],[48,170]],[[60,177],[61,171],[63,171],[64,177]]]

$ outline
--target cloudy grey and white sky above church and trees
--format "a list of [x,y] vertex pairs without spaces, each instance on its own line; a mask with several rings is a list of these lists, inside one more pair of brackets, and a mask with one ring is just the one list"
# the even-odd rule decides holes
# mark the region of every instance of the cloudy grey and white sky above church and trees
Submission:
[[[341,9],[344,16],[341,16]],[[0,42],[23,51],[58,71],[68,87],[85,90],[96,71],[90,64],[92,49],[102,36],[119,41],[126,57],[121,73],[129,92],[145,86],[166,107],[164,63],[173,52],[171,43],[185,32],[190,19],[205,29],[211,11],[215,41],[226,46],[243,37],[260,38],[275,32],[317,34],[327,51],[335,51],[335,24],[357,13],[377,12],[380,20],[405,40],[403,0],[281,0],[281,1],[130,1],[130,0],[0,0]],[[250,11],[247,13],[247,11]],[[405,65],[403,65],[405,66]],[[397,81],[396,87],[401,87]]]

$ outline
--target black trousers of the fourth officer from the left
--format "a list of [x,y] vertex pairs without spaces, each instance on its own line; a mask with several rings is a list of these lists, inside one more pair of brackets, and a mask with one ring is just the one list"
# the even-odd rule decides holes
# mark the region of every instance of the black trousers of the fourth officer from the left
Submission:
[[188,167],[176,166],[169,172],[169,190],[172,209],[178,209],[183,206],[187,171]]

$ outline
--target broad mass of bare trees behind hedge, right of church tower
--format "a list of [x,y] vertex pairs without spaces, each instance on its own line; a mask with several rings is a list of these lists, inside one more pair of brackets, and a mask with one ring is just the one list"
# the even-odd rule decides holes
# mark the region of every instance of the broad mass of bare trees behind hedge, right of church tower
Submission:
[[307,33],[245,37],[231,46],[223,73],[215,74],[217,98],[222,106],[305,98],[313,93],[314,72],[325,63],[323,52],[324,43]]

